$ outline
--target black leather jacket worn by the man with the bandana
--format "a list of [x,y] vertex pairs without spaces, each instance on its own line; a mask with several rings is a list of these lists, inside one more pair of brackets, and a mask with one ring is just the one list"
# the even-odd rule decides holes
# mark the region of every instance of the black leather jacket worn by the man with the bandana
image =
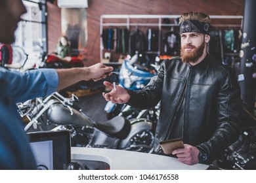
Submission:
[[233,70],[208,55],[194,66],[182,63],[180,58],[167,59],[161,63],[158,76],[143,90],[128,92],[131,98],[127,104],[140,109],[154,107],[161,100],[154,142],[156,152],[160,150],[159,142],[167,140],[172,131],[182,131],[182,125],[173,125],[182,97],[183,141],[204,151],[208,163],[238,139],[242,112],[240,87]]

